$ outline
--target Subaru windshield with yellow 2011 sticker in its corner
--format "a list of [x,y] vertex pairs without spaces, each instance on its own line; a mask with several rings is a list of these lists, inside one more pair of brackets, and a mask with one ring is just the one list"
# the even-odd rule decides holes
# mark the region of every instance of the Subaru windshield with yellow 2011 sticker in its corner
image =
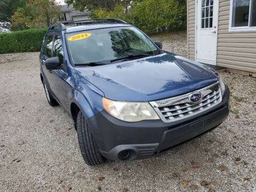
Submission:
[[74,65],[111,60],[139,54],[159,54],[156,46],[135,27],[94,29],[67,34]]

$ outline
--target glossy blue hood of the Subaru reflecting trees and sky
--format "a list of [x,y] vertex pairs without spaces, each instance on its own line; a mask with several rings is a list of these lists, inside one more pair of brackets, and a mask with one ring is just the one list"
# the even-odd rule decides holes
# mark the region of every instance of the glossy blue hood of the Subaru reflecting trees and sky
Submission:
[[169,98],[218,81],[203,65],[171,53],[74,70],[106,98],[118,101]]

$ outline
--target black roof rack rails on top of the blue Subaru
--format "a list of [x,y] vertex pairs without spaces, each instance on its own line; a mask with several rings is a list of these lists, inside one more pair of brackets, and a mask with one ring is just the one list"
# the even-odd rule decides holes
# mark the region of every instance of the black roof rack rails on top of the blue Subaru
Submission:
[[[93,21],[93,22],[90,22]],[[86,19],[86,20],[79,20],[79,21],[66,21],[66,22],[59,22],[59,23],[54,23],[53,25],[51,25],[49,27],[48,30],[52,30],[55,27],[59,27],[60,30],[66,30],[66,26],[68,24],[72,24],[72,23],[76,23],[77,25],[85,25],[85,24],[89,24],[89,23],[100,23],[100,22],[106,22],[106,21],[113,21],[116,23],[123,23],[123,24],[127,24],[127,22],[121,20],[121,19],[113,19],[113,18],[109,18],[109,19]]]

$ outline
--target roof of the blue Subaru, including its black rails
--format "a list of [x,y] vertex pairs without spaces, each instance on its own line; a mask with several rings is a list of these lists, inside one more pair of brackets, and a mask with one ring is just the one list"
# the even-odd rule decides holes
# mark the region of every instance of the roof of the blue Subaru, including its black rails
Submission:
[[87,19],[81,21],[60,22],[55,23],[49,27],[49,30],[65,30],[66,33],[73,33],[76,31],[102,29],[111,27],[127,27],[132,26],[123,20],[119,19]]

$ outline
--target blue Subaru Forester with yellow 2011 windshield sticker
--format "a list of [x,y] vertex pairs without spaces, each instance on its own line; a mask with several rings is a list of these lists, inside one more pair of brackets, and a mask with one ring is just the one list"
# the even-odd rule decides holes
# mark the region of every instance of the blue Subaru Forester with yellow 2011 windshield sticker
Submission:
[[47,101],[73,118],[88,165],[163,154],[229,113],[215,70],[163,51],[122,20],[52,25],[39,62]]

